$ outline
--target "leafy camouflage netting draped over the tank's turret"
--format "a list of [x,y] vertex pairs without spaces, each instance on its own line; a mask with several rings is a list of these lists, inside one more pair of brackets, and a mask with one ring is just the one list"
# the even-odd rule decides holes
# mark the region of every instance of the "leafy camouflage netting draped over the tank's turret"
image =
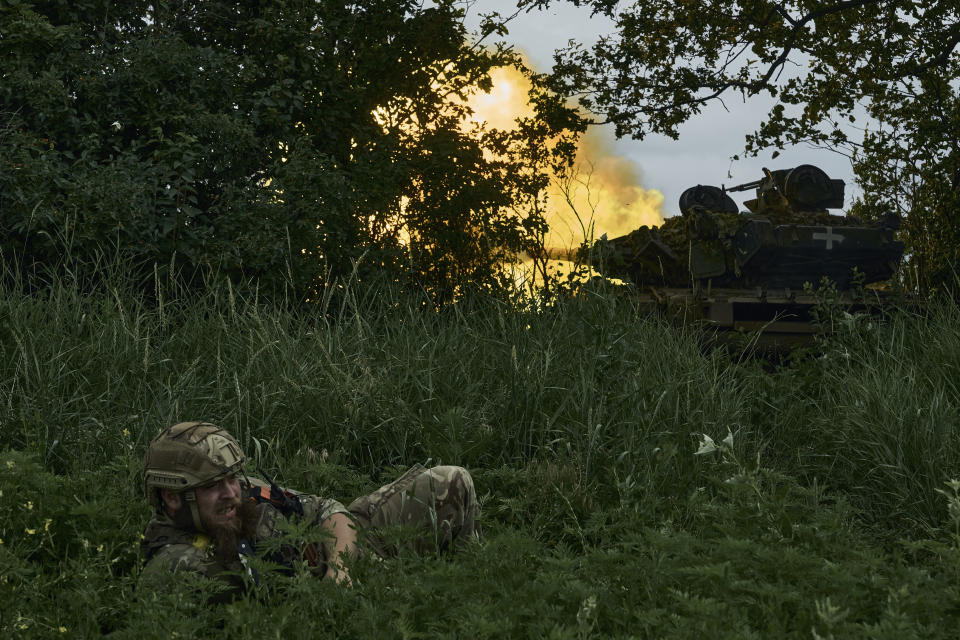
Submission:
[[693,207],[686,215],[672,216],[659,227],[646,225],[617,238],[605,236],[587,252],[587,259],[600,273],[631,280],[637,285],[685,287],[691,283],[688,268],[690,239],[702,252],[726,263],[727,273],[739,272],[734,260],[733,237],[745,222],[766,219],[774,226],[858,226],[852,216],[827,211],[776,210],[764,214],[711,212]]

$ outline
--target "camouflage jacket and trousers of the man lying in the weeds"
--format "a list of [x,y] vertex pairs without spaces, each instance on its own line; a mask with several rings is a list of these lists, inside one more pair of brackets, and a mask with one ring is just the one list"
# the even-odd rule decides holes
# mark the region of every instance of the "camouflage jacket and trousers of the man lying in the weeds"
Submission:
[[[262,485],[250,479],[251,484]],[[249,485],[244,487],[249,488]],[[426,469],[414,465],[397,480],[373,493],[357,498],[345,508],[336,500],[295,493],[303,506],[303,519],[319,525],[337,513],[351,517],[358,530],[358,545],[361,552],[379,556],[393,555],[400,542],[420,553],[447,551],[454,540],[476,538],[478,504],[473,479],[461,467],[441,466]],[[270,503],[257,505],[256,536],[250,542],[254,546],[265,540],[283,536],[280,521],[287,517]],[[392,535],[393,530],[406,535]],[[142,580],[151,580],[157,574],[170,571],[192,571],[214,577],[225,574],[230,584],[226,598],[242,588],[240,574],[245,569],[245,558],[238,555],[224,563],[216,555],[211,539],[203,533],[178,528],[164,513],[156,514],[143,535],[140,544],[145,562]],[[300,559],[300,552],[293,547],[281,547],[280,564],[292,566]],[[322,576],[324,564],[313,569]]]

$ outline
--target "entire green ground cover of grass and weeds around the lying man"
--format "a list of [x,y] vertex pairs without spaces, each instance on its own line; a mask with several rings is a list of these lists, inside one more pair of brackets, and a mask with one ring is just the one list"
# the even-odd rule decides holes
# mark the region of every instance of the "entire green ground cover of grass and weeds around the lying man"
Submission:
[[[131,590],[148,515],[139,461],[161,428],[189,419],[228,428],[288,485],[344,500],[415,461],[474,472],[487,546],[451,565],[402,559],[396,575],[358,567],[366,596],[284,583],[287,600],[359,607],[388,636],[434,626],[416,598],[453,597],[466,617],[437,614],[449,628],[472,620],[500,637],[883,637],[869,629],[896,617],[888,587],[946,585],[960,567],[936,491],[960,477],[955,303],[851,318],[770,372],[600,289],[548,308],[472,299],[440,311],[386,286],[294,310],[226,284],[176,293],[115,278],[0,296],[0,506],[15,514],[0,561],[16,568],[2,585],[19,585],[16,614],[30,620],[19,629],[0,613],[0,628],[61,626],[36,609],[43,580],[75,600],[58,614],[70,629],[234,628],[177,588]],[[702,434],[728,433],[732,444],[695,455]],[[406,595],[391,600],[398,584]],[[394,618],[367,597],[394,603]],[[559,604],[496,621],[536,597]],[[903,595],[904,619],[935,629],[960,602],[955,589],[938,598],[933,611]],[[840,600],[846,613],[831,613]],[[192,617],[161,624],[145,603]],[[299,633],[256,602],[233,607],[250,629]]]

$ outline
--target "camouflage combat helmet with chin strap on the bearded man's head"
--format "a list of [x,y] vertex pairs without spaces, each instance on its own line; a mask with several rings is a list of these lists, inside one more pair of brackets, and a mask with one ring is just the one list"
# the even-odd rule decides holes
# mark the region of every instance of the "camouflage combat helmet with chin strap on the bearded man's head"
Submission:
[[193,524],[203,530],[195,489],[240,473],[243,451],[237,440],[209,422],[181,422],[150,443],[143,460],[143,484],[150,504],[161,510],[160,489],[182,493]]

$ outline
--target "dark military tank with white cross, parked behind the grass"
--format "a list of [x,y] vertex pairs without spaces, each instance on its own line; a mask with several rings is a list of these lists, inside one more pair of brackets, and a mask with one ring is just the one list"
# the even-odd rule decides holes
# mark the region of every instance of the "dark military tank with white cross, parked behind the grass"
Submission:
[[[829,279],[842,302],[870,308],[869,285],[889,280],[903,256],[899,218],[876,222],[832,213],[844,182],[813,165],[763,170],[734,187],[697,185],[680,196],[680,216],[660,227],[602,237],[587,259],[601,274],[633,282],[661,307],[719,329],[755,331],[789,346],[816,328],[811,309]],[[741,212],[731,192],[755,190]]]

